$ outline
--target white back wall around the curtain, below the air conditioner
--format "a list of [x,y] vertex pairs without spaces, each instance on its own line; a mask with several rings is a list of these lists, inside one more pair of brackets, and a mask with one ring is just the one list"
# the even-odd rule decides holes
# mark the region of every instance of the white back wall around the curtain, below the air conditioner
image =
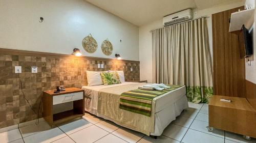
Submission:
[[[234,3],[230,5],[220,5],[204,10],[194,10],[194,18],[201,16],[209,16],[207,18],[207,26],[209,32],[209,45],[212,55],[212,26],[211,14],[221,11],[229,10],[243,6],[244,3]],[[156,20],[150,24],[142,25],[139,27],[139,50],[140,50],[140,79],[152,82],[152,35],[151,30],[163,27],[162,19]]]

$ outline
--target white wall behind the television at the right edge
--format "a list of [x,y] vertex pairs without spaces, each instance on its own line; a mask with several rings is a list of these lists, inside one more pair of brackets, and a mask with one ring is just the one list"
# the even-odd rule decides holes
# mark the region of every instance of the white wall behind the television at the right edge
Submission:
[[[247,0],[246,5],[250,7],[255,7],[255,0]],[[245,74],[246,80],[251,81],[256,84],[256,30],[255,30],[255,21],[256,21],[256,11],[254,13],[254,25],[253,25],[253,52],[254,54],[250,57],[251,65],[249,66],[247,62],[245,63]]]

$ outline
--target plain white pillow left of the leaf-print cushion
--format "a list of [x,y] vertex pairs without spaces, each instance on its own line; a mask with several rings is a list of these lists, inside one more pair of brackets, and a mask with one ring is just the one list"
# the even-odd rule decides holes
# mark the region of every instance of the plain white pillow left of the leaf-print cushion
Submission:
[[98,71],[86,71],[88,86],[102,85],[103,81]]

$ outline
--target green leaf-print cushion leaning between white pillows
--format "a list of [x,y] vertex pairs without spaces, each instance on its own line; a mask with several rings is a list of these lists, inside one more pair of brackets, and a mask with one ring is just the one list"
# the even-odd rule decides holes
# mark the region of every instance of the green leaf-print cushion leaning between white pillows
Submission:
[[104,85],[121,83],[117,72],[100,72],[100,76]]

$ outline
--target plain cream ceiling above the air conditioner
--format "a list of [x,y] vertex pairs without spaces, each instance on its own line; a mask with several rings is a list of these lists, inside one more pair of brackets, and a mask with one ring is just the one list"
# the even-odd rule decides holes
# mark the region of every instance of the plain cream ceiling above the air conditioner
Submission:
[[86,0],[135,25],[144,25],[163,16],[185,10],[198,10],[244,0]]

